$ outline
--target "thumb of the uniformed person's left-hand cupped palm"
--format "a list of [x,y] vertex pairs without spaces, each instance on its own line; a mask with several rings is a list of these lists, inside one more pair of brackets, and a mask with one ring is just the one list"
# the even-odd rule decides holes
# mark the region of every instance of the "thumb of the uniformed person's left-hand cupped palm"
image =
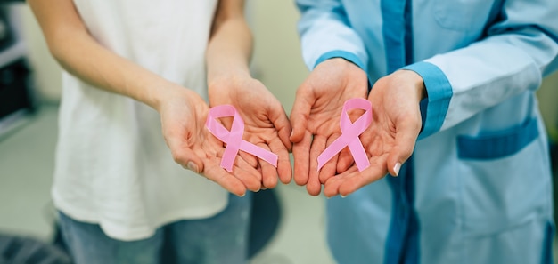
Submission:
[[300,85],[291,109],[292,133],[290,140],[292,143],[305,139],[308,116],[310,116],[310,110],[316,102],[316,98],[312,93],[305,92],[305,87],[305,84]]

